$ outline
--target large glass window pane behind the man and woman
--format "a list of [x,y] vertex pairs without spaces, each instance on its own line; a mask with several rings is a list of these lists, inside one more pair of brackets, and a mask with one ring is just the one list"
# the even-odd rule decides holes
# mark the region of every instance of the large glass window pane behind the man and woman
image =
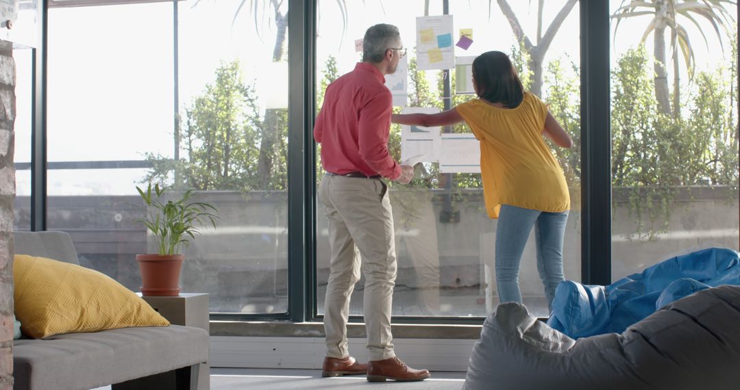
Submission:
[[[565,234],[565,277],[580,280],[580,127],[579,127],[579,10],[574,1],[499,1],[480,3],[450,1],[451,42],[457,64],[489,50],[506,52],[517,66],[525,87],[548,103],[550,112],[571,134],[570,150],[553,148],[571,188],[571,213]],[[532,4],[530,4],[532,3]],[[425,4],[428,9],[425,9]],[[542,7],[542,8],[540,8]],[[420,52],[417,44],[418,16],[443,14],[443,1],[403,1],[393,11],[383,4],[319,1],[317,24],[317,109],[326,85],[354,69],[362,54],[355,41],[377,23],[400,29],[408,48],[408,77],[388,78],[389,88],[407,91],[394,103],[395,112],[406,107],[445,109],[474,98],[456,93],[469,81],[464,69],[426,69],[436,63],[435,53]],[[343,21],[343,22],[337,22]],[[521,34],[517,35],[518,32]],[[420,34],[423,34],[420,31]],[[457,44],[461,35],[465,40]],[[469,44],[466,45],[466,43]],[[469,59],[468,59],[469,61]],[[405,69],[400,66],[400,69]],[[403,72],[403,70],[400,70]],[[460,79],[458,79],[460,78]],[[401,82],[401,84],[399,84]],[[447,87],[445,89],[445,83]],[[397,88],[398,87],[398,88]],[[446,91],[446,92],[445,92]],[[439,129],[440,133],[470,133],[465,125]],[[401,128],[391,126],[389,148],[401,158]],[[318,154],[318,151],[317,151]],[[323,175],[317,166],[317,179]],[[497,222],[486,216],[480,173],[444,173],[440,164],[420,163],[411,185],[390,183],[394,211],[398,277],[394,290],[394,315],[485,316],[498,304],[494,275],[494,243]],[[323,208],[317,208],[318,312],[329,276],[329,239]],[[534,233],[522,256],[519,284],[524,303],[535,315],[548,315],[548,305],[536,270]],[[350,313],[362,314],[363,279],[351,298]]]

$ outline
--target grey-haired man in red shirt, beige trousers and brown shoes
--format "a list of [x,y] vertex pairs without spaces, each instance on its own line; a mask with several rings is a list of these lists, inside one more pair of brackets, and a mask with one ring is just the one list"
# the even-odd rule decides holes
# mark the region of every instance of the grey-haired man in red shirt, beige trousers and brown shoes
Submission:
[[[391,202],[383,178],[406,184],[414,168],[399,165],[388,154],[392,97],[384,84],[385,75],[396,71],[403,55],[406,49],[397,27],[370,27],[363,39],[363,62],[326,87],[314,126],[326,171],[319,199],[325,206],[332,250],[324,301],[324,377],[367,373],[368,380],[383,382],[430,376],[427,370],[411,369],[399,360],[391,342],[397,265]],[[360,268],[366,278],[368,364],[354,360],[347,347],[349,297],[360,280]]]

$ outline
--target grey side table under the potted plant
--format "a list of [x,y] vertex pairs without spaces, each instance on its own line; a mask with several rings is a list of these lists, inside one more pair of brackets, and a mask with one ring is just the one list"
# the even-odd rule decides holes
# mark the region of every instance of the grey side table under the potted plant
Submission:
[[[147,304],[154,308],[170,324],[193,326],[205,329],[210,335],[208,294],[181,292],[177,296],[142,296]],[[201,363],[198,369],[198,389],[210,389],[210,363]]]

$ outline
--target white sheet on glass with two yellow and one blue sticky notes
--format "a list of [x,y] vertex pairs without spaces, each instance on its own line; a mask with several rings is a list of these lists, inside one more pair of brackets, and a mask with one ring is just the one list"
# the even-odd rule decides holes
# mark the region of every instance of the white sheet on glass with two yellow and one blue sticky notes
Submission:
[[421,70],[452,69],[455,66],[452,16],[417,18],[417,66]]

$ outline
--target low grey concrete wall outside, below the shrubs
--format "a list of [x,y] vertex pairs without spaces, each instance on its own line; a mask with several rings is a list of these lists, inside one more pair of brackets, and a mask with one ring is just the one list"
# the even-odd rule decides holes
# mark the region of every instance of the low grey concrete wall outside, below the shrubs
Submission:
[[[628,197],[615,190],[613,206],[613,278],[639,272],[650,264],[702,247],[738,249],[739,201],[727,188],[682,189],[670,212],[664,233],[651,239],[636,236],[637,218],[630,214]],[[423,191],[424,192],[424,191]],[[428,193],[428,191],[426,191]],[[216,191],[202,199],[214,203],[221,221],[215,231],[205,230],[187,248],[182,286],[184,291],[209,292],[215,311],[280,311],[287,295],[286,194],[256,192],[240,194]],[[733,197],[734,196],[734,197]],[[418,191],[392,191],[392,204],[399,236],[400,288],[418,287],[416,267],[406,247],[406,237],[428,236],[435,245],[440,286],[445,293],[475,295],[493,304],[497,299],[494,270],[497,222],[483,211],[480,190],[466,191],[454,202],[460,211],[455,223],[440,222],[444,196]],[[50,229],[70,231],[81,262],[117,278],[132,290],[141,285],[134,255],[147,247],[146,232],[135,225],[139,216],[130,203],[138,196],[58,196],[49,199]],[[18,205],[22,205],[21,199]],[[431,223],[409,223],[409,216],[431,214]],[[26,213],[19,211],[19,217]],[[581,227],[579,210],[571,211],[565,235],[565,276],[580,280]],[[643,219],[643,222],[646,222]],[[649,222],[649,221],[648,221]],[[656,227],[665,220],[658,219]],[[643,228],[642,231],[645,231]],[[317,207],[317,283],[326,284],[329,242],[323,209]],[[532,241],[532,239],[530,240]],[[434,251],[432,251],[434,252]],[[488,276],[486,276],[488,268]],[[522,256],[522,294],[542,298],[536,272],[534,246]],[[480,308],[479,308],[480,309]]]

